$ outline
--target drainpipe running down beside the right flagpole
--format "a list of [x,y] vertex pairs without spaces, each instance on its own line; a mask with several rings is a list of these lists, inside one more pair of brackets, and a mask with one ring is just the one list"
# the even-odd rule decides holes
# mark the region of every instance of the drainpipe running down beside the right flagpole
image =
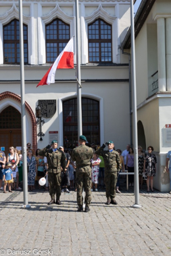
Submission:
[[131,56],[130,53],[124,52],[122,48],[122,54],[128,55],[129,58],[129,97],[130,97],[130,144],[132,147],[132,90],[131,90]]

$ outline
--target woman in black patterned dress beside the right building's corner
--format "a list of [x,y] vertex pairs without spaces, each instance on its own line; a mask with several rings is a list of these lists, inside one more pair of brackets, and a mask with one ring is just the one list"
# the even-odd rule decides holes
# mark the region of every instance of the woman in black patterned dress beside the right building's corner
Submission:
[[151,191],[153,191],[153,177],[156,176],[156,163],[157,159],[155,154],[153,154],[154,148],[152,146],[148,147],[148,153],[144,156],[144,172],[147,176],[147,192],[149,192],[149,181],[151,185]]

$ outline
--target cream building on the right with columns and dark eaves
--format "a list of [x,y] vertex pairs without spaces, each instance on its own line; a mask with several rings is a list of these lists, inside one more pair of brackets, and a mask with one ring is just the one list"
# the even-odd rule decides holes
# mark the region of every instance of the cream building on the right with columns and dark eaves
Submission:
[[[171,1],[142,1],[135,16],[138,142],[157,156],[155,188],[170,191],[166,153],[171,150]],[[130,31],[122,44],[131,53]]]

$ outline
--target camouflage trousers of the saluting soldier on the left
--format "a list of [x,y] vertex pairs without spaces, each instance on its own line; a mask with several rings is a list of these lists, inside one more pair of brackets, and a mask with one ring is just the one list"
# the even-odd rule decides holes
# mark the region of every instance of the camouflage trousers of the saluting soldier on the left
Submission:
[[53,174],[51,172],[48,172],[48,181],[49,181],[49,194],[51,196],[51,199],[60,199],[61,195],[61,173]]

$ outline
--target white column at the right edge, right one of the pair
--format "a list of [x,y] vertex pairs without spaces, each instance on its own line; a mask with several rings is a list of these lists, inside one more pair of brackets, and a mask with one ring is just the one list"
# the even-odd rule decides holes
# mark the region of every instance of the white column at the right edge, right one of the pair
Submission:
[[166,89],[171,91],[171,17],[166,18]]

